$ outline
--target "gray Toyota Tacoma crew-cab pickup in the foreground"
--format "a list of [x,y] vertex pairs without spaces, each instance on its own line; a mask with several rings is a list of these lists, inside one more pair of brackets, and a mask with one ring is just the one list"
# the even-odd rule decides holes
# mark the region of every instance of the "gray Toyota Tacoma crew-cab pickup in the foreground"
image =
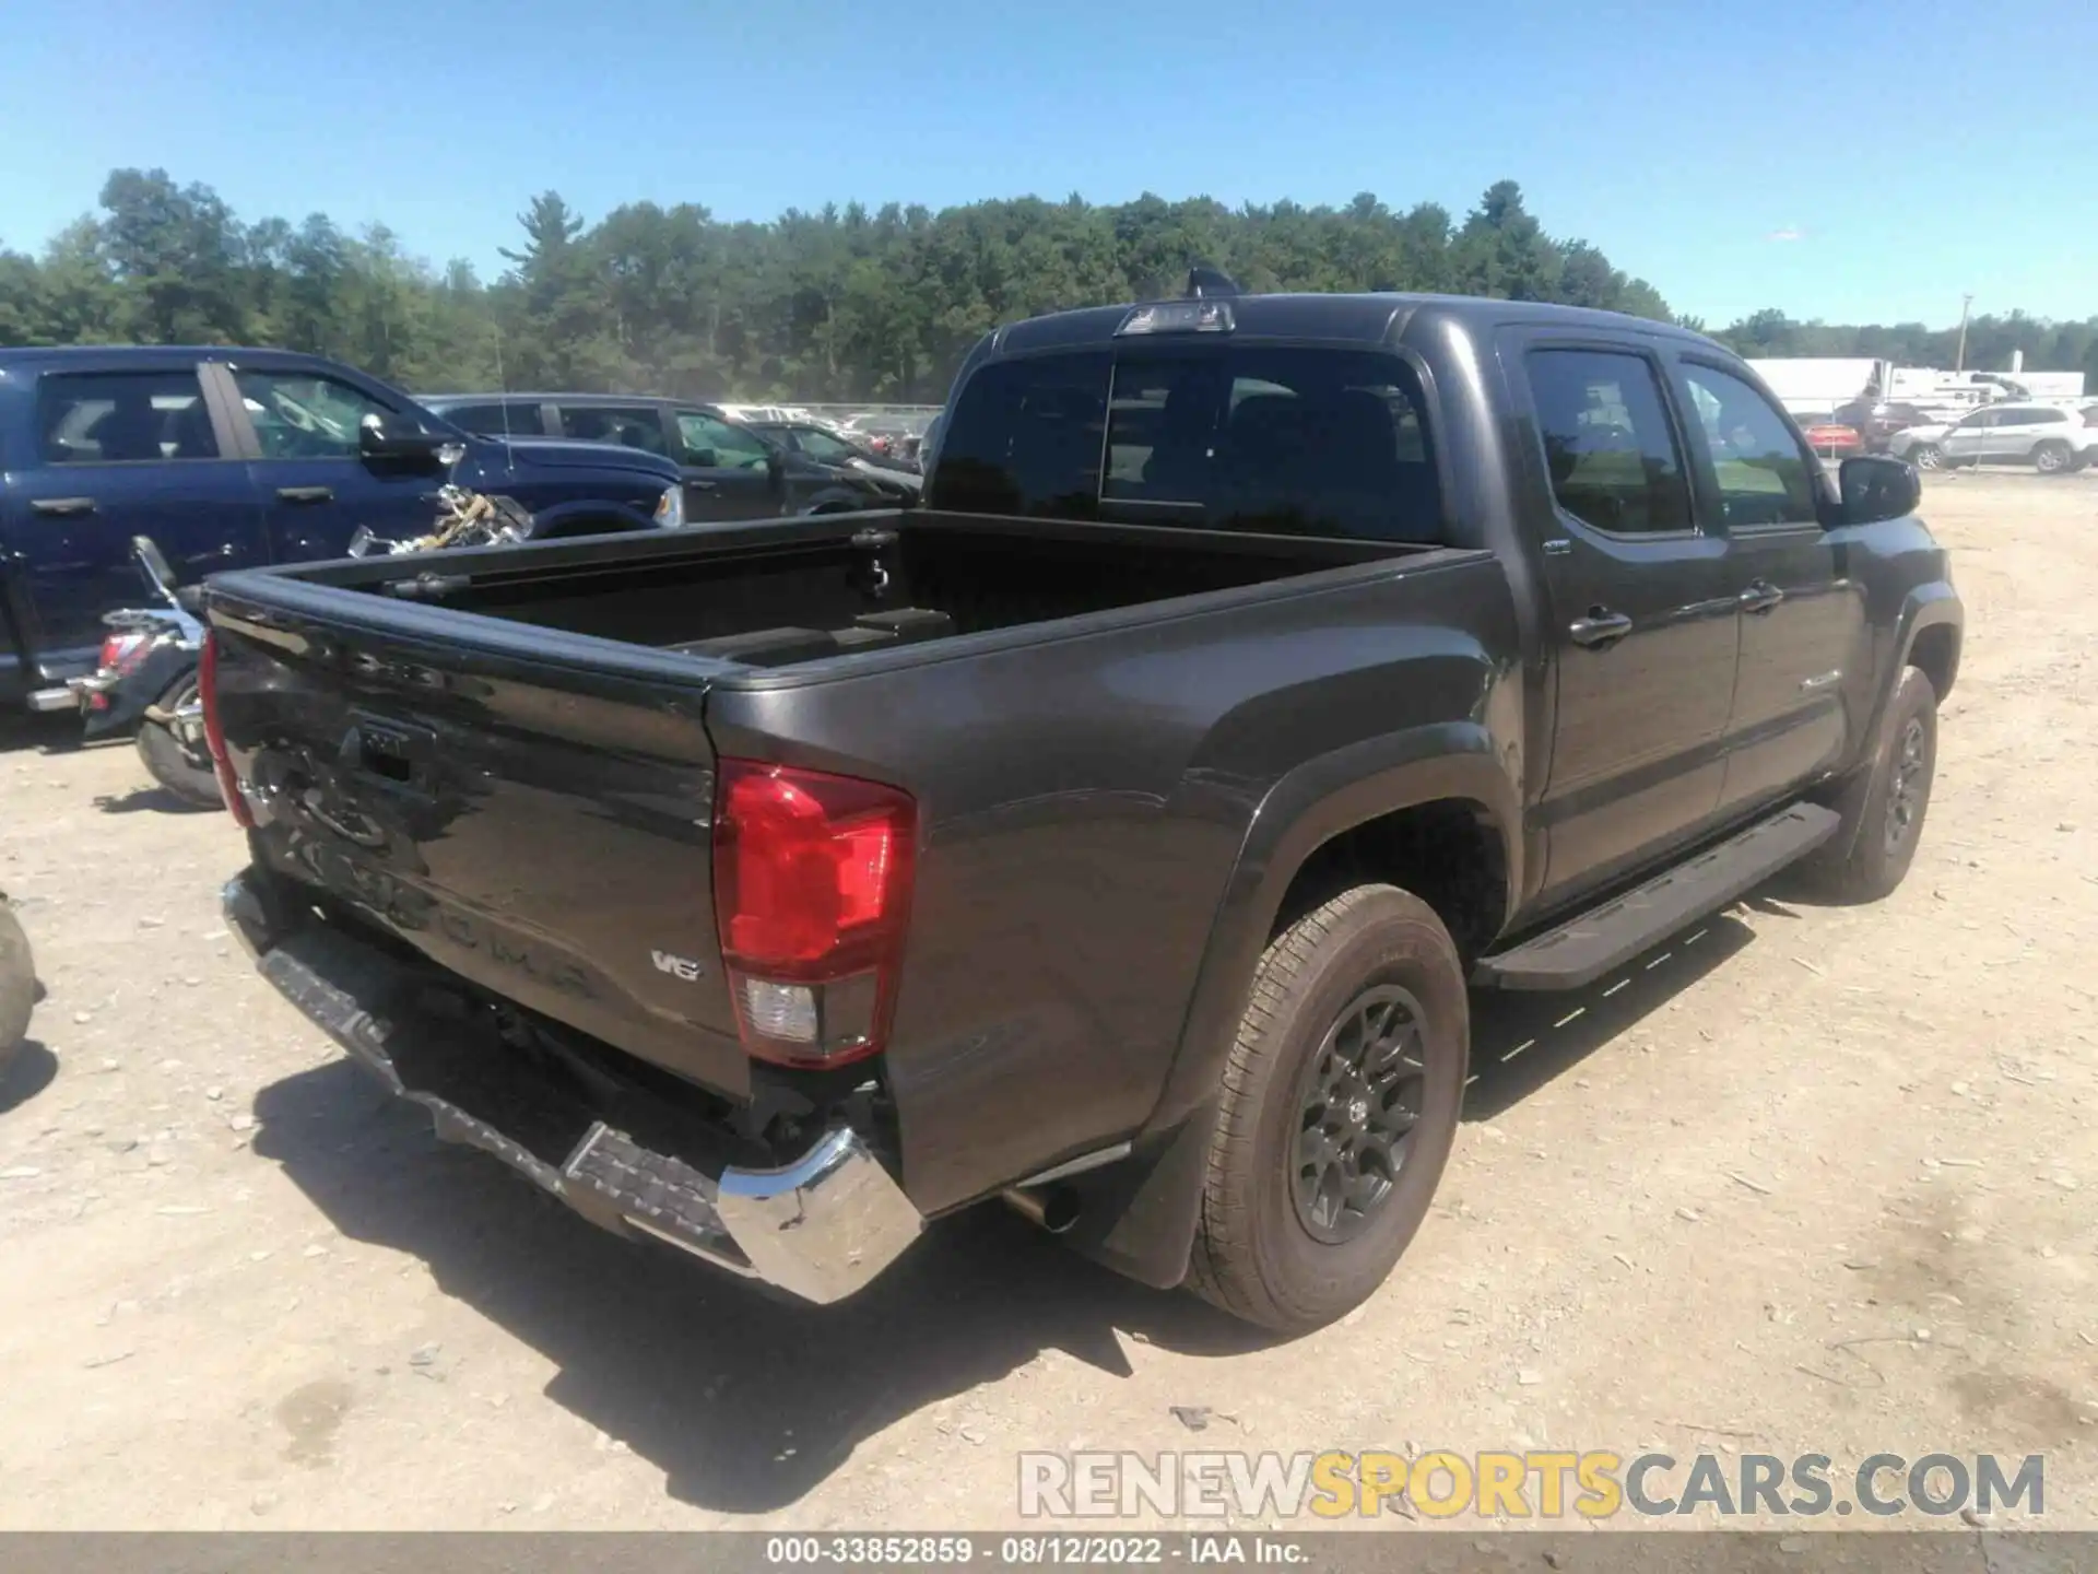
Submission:
[[1469,991],[1901,881],[1962,638],[1915,506],[1660,323],[1039,317],[919,510],[214,579],[227,909],[606,1228],[833,1301],[1003,1198],[1315,1326],[1429,1209]]

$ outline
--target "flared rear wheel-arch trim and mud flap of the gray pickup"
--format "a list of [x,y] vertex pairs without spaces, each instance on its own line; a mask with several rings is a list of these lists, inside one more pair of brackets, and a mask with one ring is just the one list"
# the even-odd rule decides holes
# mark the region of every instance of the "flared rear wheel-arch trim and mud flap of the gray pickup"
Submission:
[[1246,988],[1297,871],[1320,846],[1416,804],[1477,804],[1500,829],[1504,911],[1521,890],[1521,797],[1508,745],[1473,720],[1410,728],[1320,756],[1261,802],[1211,926],[1208,949],[1164,1091],[1129,1158],[1072,1182],[1066,1240],[1131,1278],[1166,1289],[1187,1272],[1223,1066]]

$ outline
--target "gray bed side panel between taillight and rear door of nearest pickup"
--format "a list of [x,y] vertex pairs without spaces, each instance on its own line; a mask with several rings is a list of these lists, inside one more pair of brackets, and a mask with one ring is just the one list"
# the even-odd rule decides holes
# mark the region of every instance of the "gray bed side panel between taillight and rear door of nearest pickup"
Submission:
[[1446,552],[1276,590],[709,693],[722,756],[917,795],[887,1066],[904,1186],[921,1209],[1146,1125],[1278,781],[1446,722],[1494,718],[1515,747],[1515,611],[1492,556]]

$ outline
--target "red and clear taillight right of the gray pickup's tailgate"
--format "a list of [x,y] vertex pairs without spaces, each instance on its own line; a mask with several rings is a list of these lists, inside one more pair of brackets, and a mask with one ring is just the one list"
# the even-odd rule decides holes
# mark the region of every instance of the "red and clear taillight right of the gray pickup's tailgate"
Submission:
[[722,760],[713,909],[743,1043],[837,1066],[887,1037],[917,804],[856,777]]

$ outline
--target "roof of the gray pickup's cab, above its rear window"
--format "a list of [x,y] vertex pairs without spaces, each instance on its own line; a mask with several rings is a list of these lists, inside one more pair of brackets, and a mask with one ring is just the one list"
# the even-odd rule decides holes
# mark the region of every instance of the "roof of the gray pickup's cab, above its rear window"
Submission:
[[[1441,319],[1467,332],[1513,323],[1548,323],[1559,327],[1590,327],[1605,332],[1660,334],[1706,344],[1674,323],[1628,317],[1588,306],[1557,306],[1542,300],[1487,300],[1485,296],[1433,294],[1276,294],[1276,296],[1213,296],[1232,306],[1234,338],[1339,340],[1357,344],[1389,344],[1416,319]],[[1139,304],[1083,306],[1047,317],[1007,323],[994,334],[994,355],[1026,355],[1032,350],[1114,342],[1116,329]],[[1160,338],[1187,338],[1183,334]]]

